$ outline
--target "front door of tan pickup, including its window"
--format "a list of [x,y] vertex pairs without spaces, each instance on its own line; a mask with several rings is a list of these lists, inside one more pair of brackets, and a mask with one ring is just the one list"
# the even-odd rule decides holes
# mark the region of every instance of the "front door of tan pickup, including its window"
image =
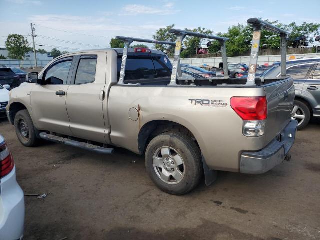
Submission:
[[35,84],[30,92],[32,116],[39,130],[72,135],[66,111],[72,60],[66,57],[53,62],[44,71],[41,84]]

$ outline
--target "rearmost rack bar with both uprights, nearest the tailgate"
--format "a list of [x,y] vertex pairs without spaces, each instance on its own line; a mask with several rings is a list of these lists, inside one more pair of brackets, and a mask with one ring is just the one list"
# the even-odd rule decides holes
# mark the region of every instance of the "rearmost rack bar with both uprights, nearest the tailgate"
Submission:
[[286,78],[286,43],[288,35],[290,34],[286,30],[283,30],[277,26],[270,24],[269,22],[263,21],[260,18],[249,18],[247,23],[253,26],[253,38],[251,46],[251,55],[249,63],[249,72],[246,81],[246,85],[255,85],[255,73],[258,63],[258,52],[261,39],[261,30],[265,30],[280,34],[281,39],[281,79]]

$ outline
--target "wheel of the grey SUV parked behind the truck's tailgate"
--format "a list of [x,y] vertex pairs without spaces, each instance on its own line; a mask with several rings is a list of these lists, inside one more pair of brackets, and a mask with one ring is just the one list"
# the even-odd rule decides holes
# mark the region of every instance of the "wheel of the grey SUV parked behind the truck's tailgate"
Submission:
[[301,130],[309,123],[310,117],[309,107],[303,101],[294,100],[291,118],[298,121],[298,130]]

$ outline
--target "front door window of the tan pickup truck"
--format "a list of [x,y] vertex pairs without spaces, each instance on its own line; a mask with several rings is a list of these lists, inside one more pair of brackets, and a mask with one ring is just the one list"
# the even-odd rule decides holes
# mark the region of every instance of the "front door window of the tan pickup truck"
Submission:
[[72,59],[60,61],[51,66],[45,74],[44,84],[66,84]]

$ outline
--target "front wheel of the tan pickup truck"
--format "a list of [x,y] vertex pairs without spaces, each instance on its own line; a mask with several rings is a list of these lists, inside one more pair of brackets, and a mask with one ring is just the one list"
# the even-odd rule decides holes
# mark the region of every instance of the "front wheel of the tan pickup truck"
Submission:
[[14,117],[15,133],[24,146],[36,146],[39,142],[31,116],[27,110],[20,110]]

